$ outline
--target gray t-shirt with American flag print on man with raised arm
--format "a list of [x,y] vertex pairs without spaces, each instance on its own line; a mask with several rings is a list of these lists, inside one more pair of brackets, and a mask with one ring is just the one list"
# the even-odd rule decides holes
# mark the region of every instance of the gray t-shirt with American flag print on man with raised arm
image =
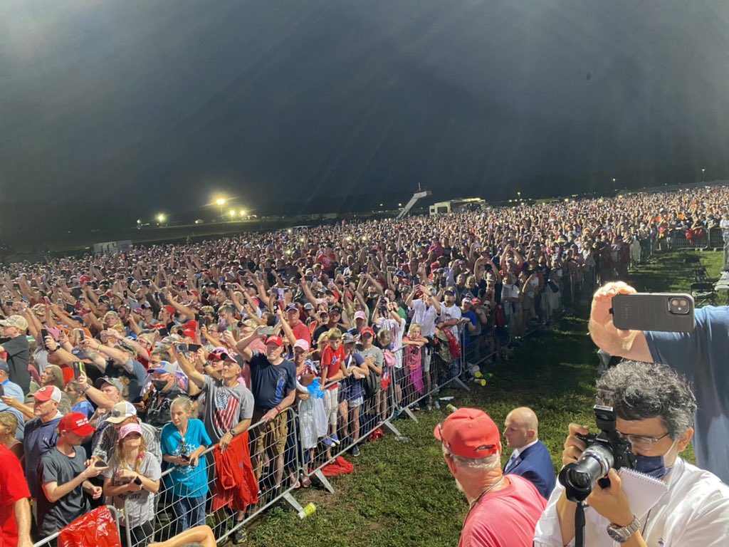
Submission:
[[235,424],[253,416],[253,394],[243,384],[226,387],[222,381],[205,377],[203,423],[213,444]]

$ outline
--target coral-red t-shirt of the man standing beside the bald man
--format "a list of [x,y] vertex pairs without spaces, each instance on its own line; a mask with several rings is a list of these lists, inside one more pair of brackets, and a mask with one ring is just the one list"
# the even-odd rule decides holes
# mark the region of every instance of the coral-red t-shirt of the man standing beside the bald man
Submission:
[[547,500],[534,484],[509,475],[509,486],[488,492],[466,517],[459,547],[531,547]]

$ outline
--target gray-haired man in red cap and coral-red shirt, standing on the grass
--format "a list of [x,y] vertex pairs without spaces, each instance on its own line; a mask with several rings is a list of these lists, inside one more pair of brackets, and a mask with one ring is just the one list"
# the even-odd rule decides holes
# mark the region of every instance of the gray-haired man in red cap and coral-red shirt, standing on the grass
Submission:
[[459,408],[433,434],[470,505],[459,547],[531,547],[546,500],[526,478],[504,476],[494,420],[476,408]]

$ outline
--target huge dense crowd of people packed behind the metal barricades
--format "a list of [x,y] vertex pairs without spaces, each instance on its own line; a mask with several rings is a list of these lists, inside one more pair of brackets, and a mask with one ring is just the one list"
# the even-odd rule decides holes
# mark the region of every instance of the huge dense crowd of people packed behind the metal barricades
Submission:
[[36,539],[106,500],[144,546],[155,504],[177,532],[204,524],[209,469],[248,458],[229,492],[241,521],[260,491],[308,483],[287,465],[287,408],[308,462],[341,443],[356,457],[367,417],[437,405],[460,351],[508,359],[530,325],[728,210],[711,187],[11,263],[0,468],[20,458],[25,481],[3,534],[28,544],[28,498]]

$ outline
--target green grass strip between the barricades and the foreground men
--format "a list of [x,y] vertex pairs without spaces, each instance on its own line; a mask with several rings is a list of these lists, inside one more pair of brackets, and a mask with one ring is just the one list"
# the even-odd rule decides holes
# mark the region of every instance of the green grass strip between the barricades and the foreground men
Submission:
[[[640,291],[688,292],[698,256],[709,276],[717,279],[720,252],[686,252],[659,255],[631,275]],[[722,297],[723,298],[723,295]],[[720,298],[720,299],[721,299]],[[723,300],[722,302],[723,303]],[[455,406],[483,408],[499,426],[508,411],[530,406],[539,416],[539,438],[550,449],[555,465],[569,422],[592,424],[596,348],[587,335],[588,308],[564,317],[553,332],[536,333],[517,349],[514,358],[492,366],[494,378],[486,387],[471,391],[449,389]],[[350,476],[332,479],[334,494],[312,487],[295,492],[316,513],[303,521],[288,507],[275,508],[249,527],[249,545],[255,547],[367,546],[441,547],[456,545],[467,511],[463,495],[443,462],[433,429],[446,416],[440,411],[419,413],[418,422],[397,420],[396,427],[409,438],[400,443],[394,435],[362,448]],[[503,454],[504,462],[510,451]],[[693,452],[685,453],[693,460]]]

